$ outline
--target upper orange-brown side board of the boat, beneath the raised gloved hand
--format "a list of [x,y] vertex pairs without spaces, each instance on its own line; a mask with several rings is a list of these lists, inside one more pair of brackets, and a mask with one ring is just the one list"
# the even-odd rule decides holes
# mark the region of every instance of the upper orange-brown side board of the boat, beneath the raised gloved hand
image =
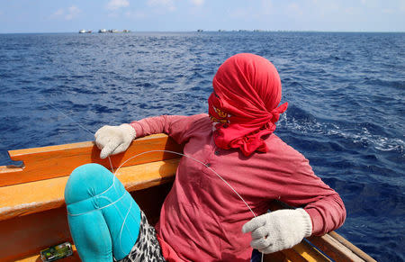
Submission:
[[[129,149],[111,157],[112,166],[115,169],[134,156],[138,157],[130,159],[123,167],[179,157],[163,151],[153,151],[163,149],[181,152],[182,146],[165,134],[133,140]],[[107,168],[111,167],[108,158],[99,158],[100,149],[94,145],[94,142],[11,150],[9,155],[13,160],[23,161],[24,167],[0,167],[0,186],[68,176],[76,167],[87,163],[98,163]]]

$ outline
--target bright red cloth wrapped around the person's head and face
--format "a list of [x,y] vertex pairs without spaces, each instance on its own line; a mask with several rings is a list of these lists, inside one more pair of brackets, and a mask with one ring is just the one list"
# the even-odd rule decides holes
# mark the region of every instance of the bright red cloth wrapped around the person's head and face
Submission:
[[242,53],[227,59],[212,80],[208,99],[215,144],[239,148],[245,156],[267,151],[261,138],[275,131],[275,122],[288,104],[281,101],[282,86],[275,66],[265,58]]

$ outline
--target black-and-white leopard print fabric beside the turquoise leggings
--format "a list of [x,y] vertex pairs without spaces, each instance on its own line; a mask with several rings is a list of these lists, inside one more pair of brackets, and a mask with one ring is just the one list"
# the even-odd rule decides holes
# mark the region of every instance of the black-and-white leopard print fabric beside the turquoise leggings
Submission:
[[130,254],[120,262],[164,262],[155,228],[149,225],[146,215],[140,211],[139,236]]

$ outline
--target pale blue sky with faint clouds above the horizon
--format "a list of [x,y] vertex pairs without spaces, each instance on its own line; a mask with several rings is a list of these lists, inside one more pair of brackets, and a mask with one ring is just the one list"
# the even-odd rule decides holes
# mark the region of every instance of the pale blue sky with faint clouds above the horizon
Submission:
[[0,0],[0,33],[405,32],[405,0]]

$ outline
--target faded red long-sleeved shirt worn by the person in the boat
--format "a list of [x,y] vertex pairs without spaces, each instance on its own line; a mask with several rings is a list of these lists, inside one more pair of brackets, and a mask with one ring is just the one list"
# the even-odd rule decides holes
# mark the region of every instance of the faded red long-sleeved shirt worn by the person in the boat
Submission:
[[[184,143],[184,154],[222,176],[257,214],[278,199],[303,207],[312,233],[335,230],[346,218],[338,193],[315,176],[309,161],[275,134],[268,152],[245,157],[238,149],[220,149],[212,139],[207,114],[165,115],[131,122],[137,137],[164,132]],[[192,158],[182,158],[175,183],[157,223],[157,237],[167,261],[249,261],[249,234],[244,223],[252,212],[220,177]]]

